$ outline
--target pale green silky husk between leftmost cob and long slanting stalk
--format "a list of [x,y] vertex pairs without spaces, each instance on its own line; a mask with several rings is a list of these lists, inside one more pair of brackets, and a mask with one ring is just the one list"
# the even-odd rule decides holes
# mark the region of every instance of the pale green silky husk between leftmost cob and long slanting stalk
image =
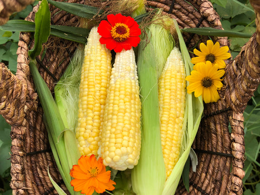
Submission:
[[55,101],[67,130],[64,132],[64,139],[70,168],[78,164],[80,158],[75,129],[78,122],[80,74],[83,58],[84,50],[77,49],[68,68],[54,88]]

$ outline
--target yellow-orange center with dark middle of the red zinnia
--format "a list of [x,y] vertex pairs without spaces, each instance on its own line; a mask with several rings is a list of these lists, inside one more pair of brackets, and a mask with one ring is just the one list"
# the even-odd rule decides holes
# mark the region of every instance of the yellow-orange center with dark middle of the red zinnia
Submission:
[[116,23],[111,30],[111,36],[117,42],[123,42],[130,37],[130,29],[126,24]]

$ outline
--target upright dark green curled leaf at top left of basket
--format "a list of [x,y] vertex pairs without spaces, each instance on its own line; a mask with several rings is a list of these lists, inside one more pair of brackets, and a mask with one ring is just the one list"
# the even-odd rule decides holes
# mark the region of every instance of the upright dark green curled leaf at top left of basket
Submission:
[[32,59],[40,55],[42,43],[46,42],[50,35],[51,12],[47,0],[42,0],[39,10],[35,14],[34,48],[28,54]]

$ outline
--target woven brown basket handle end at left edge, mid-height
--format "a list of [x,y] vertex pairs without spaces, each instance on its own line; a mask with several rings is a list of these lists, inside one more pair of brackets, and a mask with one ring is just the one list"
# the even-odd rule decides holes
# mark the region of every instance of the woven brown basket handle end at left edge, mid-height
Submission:
[[21,81],[0,62],[0,115],[12,126],[22,124],[26,91]]

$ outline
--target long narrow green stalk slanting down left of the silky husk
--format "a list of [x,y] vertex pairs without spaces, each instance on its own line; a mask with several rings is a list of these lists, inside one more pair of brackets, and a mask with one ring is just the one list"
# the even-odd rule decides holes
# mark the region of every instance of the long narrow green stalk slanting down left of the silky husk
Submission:
[[29,63],[30,70],[33,76],[37,93],[40,98],[44,115],[46,116],[46,122],[50,130],[48,134],[51,135],[53,142],[55,144],[55,148],[59,155],[62,171],[64,172],[65,175],[65,177],[63,178],[64,183],[66,184],[66,187],[68,188],[70,193],[74,194],[74,191],[71,185],[69,184],[71,181],[71,177],[69,175],[70,167],[66,156],[64,137],[62,135],[63,131],[65,130],[65,126],[60,117],[58,107],[52,97],[52,94],[48,86],[46,85],[45,81],[40,76],[36,64],[37,62],[35,59],[30,59],[30,63]]

